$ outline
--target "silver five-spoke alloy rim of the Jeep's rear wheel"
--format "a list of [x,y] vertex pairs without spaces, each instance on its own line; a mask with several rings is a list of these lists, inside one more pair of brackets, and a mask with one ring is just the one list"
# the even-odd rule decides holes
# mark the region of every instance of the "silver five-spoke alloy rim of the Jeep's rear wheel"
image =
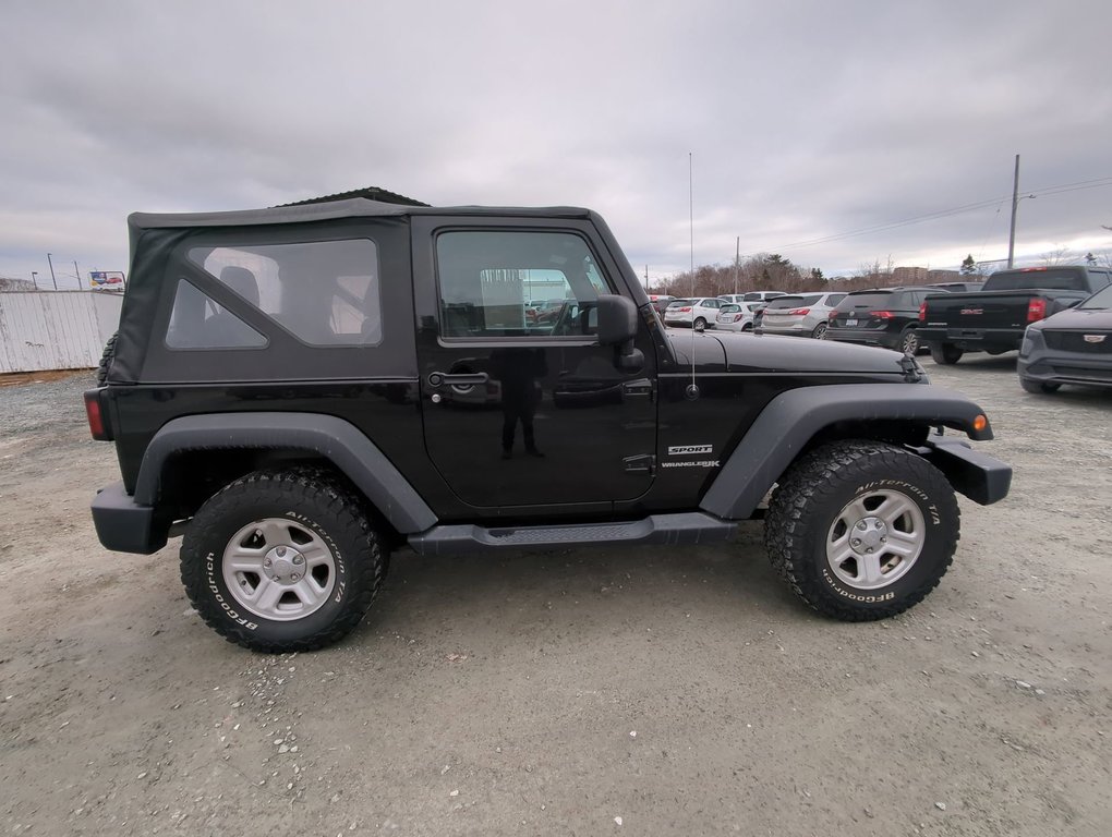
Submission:
[[224,550],[224,582],[236,604],[275,621],[317,611],[336,584],[336,558],[317,532],[268,517],[237,531]]

